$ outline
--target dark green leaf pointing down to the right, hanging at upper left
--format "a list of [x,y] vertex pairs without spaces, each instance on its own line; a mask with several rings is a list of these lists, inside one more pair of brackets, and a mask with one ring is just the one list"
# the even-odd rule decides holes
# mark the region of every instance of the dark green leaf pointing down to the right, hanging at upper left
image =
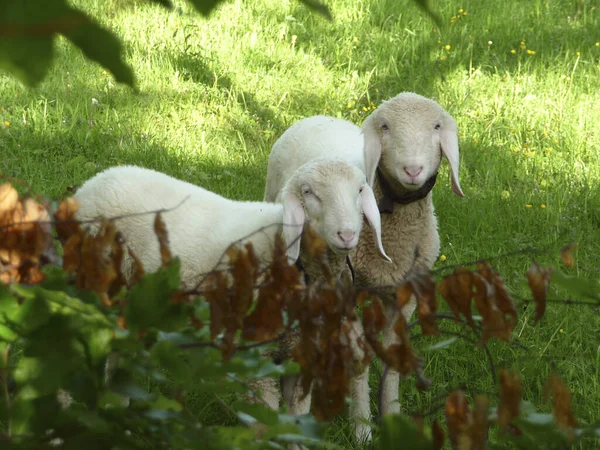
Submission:
[[69,13],[69,20],[73,21],[74,26],[62,34],[79,47],[85,56],[108,69],[115,80],[133,87],[133,71],[123,59],[121,41],[80,11],[71,9]]

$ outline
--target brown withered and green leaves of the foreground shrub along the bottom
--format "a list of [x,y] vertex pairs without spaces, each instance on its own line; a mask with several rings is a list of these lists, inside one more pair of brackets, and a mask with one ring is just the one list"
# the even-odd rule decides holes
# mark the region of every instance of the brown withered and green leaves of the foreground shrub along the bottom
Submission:
[[[509,341],[517,309],[502,278],[487,262],[474,270],[456,268],[439,282],[430,272],[412,271],[397,287],[398,306],[411,294],[418,299],[418,322],[400,315],[395,323],[399,343],[383,348],[378,334],[385,325],[374,292],[357,292],[329,279],[306,286],[279,242],[273,263],[259,267],[251,246],[228,250],[228,274],[213,272],[193,289],[179,288],[179,261],[168,248],[168,236],[157,212],[155,230],[162,267],[144,274],[136,261],[130,285],[120,267],[128,252],[113,222],[102,221],[96,236],[74,220],[77,205],[67,199],[48,205],[20,199],[10,185],[0,186],[0,441],[3,448],[284,448],[291,441],[320,443],[320,425],[344,408],[353,361],[349,322],[362,320],[359,337],[368,364],[377,355],[403,374],[415,372],[420,388],[422,359],[412,349],[408,331],[440,335],[441,320],[462,323],[485,345],[491,338]],[[48,211],[52,211],[52,219]],[[54,250],[54,230],[62,258]],[[324,244],[308,233],[313,258],[321,261]],[[562,250],[573,263],[572,246]],[[556,275],[559,274],[559,275]],[[574,294],[598,301],[597,286],[574,280],[558,270],[532,264],[527,273],[536,318],[546,308],[550,281]],[[258,295],[255,298],[255,292]],[[452,315],[438,312],[438,295]],[[203,298],[203,299],[202,299]],[[473,314],[475,305],[477,315]],[[356,306],[362,307],[362,319]],[[217,398],[253,393],[248,385],[266,375],[297,371],[261,356],[277,341],[300,332],[296,349],[300,371],[316,391],[313,415],[300,418],[269,410],[260,402],[222,400],[238,420],[236,426],[207,426],[186,408],[194,381],[198,392]],[[447,342],[447,341],[446,341]],[[440,342],[442,348],[445,342]],[[120,364],[105,378],[105,361],[120,354]],[[384,375],[385,376],[384,372]],[[198,383],[200,381],[200,383]],[[148,384],[153,389],[147,389]],[[62,407],[59,395],[75,401]],[[516,373],[500,371],[499,402],[477,397],[473,406],[462,391],[445,400],[446,432],[439,423],[387,416],[378,420],[375,446],[393,448],[398,440],[410,448],[482,449],[490,427],[499,439],[520,448],[564,448],[598,436],[600,424],[579,424],[571,394],[552,376],[547,392],[553,414],[540,414],[521,400]],[[131,399],[126,405],[122,396]],[[318,419],[318,420],[317,420]],[[254,426],[260,424],[260,426]]]

